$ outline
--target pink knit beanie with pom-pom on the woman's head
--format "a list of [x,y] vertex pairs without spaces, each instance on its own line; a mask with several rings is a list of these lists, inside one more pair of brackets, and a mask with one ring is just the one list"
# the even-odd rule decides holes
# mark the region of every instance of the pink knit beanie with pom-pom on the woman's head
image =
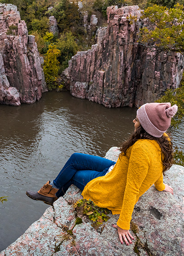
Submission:
[[167,103],[146,103],[137,110],[137,118],[141,126],[153,137],[162,137],[171,124],[171,117],[178,107]]

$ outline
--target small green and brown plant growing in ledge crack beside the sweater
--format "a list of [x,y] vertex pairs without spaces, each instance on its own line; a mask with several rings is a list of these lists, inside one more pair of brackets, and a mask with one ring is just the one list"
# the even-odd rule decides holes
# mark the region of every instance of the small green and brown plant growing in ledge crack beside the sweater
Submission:
[[93,221],[92,227],[97,230],[103,221],[108,221],[110,218],[107,216],[109,210],[98,207],[91,199],[80,199],[74,204],[74,208],[77,212],[82,212],[87,215],[91,221]]

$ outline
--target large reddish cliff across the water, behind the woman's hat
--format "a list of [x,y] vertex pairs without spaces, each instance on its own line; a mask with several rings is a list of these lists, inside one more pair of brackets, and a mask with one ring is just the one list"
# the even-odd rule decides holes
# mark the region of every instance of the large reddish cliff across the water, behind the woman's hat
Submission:
[[[70,93],[106,107],[153,102],[167,88],[177,88],[184,57],[158,53],[137,44],[143,22],[138,6],[107,8],[108,26],[98,31],[97,44],[69,61]],[[130,24],[128,16],[137,16]]]

